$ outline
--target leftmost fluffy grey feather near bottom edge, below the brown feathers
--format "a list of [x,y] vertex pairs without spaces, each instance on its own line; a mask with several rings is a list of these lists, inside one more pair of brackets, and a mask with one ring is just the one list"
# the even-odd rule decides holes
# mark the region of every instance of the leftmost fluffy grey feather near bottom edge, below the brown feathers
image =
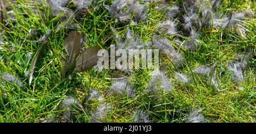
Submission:
[[78,114],[77,111],[83,109],[81,103],[73,97],[65,98],[61,107],[65,110],[63,117],[67,122],[73,122]]

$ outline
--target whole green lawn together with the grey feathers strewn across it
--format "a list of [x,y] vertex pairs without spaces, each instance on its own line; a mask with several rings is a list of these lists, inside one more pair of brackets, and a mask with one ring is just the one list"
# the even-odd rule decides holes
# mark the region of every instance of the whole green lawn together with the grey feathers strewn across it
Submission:
[[[255,1],[112,2],[0,0],[0,122],[256,122]],[[73,67],[110,45],[160,72]]]

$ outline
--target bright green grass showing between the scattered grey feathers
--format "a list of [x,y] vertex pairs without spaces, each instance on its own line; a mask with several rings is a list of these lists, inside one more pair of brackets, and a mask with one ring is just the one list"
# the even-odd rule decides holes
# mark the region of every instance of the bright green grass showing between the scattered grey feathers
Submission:
[[[20,77],[24,88],[19,88],[13,83],[0,84],[0,122],[41,122],[51,116],[61,118],[63,110],[60,109],[61,101],[67,96],[73,96],[80,102],[88,94],[88,89],[97,89],[107,93],[113,80],[111,73],[116,70],[104,70],[98,72],[88,70],[75,73],[71,81],[60,79],[60,53],[65,53],[63,42],[70,29],[60,28],[49,36],[46,47],[40,55],[35,67],[32,84],[28,84],[26,73],[30,68],[31,60],[36,54],[40,43],[33,40],[46,33],[47,29],[53,29],[60,25],[57,18],[50,15],[48,6],[29,5],[30,0],[17,0],[19,6],[9,2],[15,14],[15,24],[7,19],[5,24],[1,23],[0,29],[6,43],[0,49],[0,72],[9,72]],[[178,1],[175,1],[178,2]],[[219,12],[229,10],[244,11],[256,9],[252,1],[222,2]],[[88,42],[85,47],[100,45],[106,48],[114,43],[109,40],[102,40],[108,36],[110,27],[117,28],[121,36],[125,36],[127,25],[138,34],[144,42],[150,41],[156,25],[165,19],[164,11],[154,10],[155,5],[148,7],[150,14],[147,20],[133,24],[131,21],[122,23],[109,16],[102,3],[81,20],[76,21],[81,27],[79,32],[86,33]],[[33,11],[39,11],[40,15]],[[9,16],[10,18],[11,16]],[[6,27],[5,25],[8,25]],[[242,53],[249,47],[255,48],[256,44],[256,20],[245,21],[248,32],[247,39],[240,37],[236,31],[209,32],[212,29],[203,29],[200,32],[200,48],[196,51],[184,51],[186,67],[182,70],[176,69],[168,60],[167,76],[174,82],[174,93],[159,93],[160,99],[153,100],[145,92],[148,88],[150,76],[147,70],[134,70],[126,73],[130,76],[130,82],[136,90],[136,96],[108,97],[107,102],[112,105],[112,111],[107,122],[132,122],[133,110],[144,109],[150,113],[150,120],[153,122],[185,122],[192,107],[203,109],[201,114],[209,122],[256,122],[256,88],[255,88],[255,67],[256,60],[250,59],[245,68],[245,81],[236,84],[232,74],[228,71],[226,63],[234,59],[234,55]],[[31,36],[33,31],[36,34]],[[217,45],[220,40],[221,45]],[[170,38],[171,40],[171,38]],[[173,39],[172,39],[173,40]],[[196,84],[184,84],[175,79],[174,72],[190,72],[199,64],[211,66],[218,61],[216,66],[218,79],[221,81],[221,91],[217,92],[203,76],[195,75]],[[90,122],[90,111],[81,112],[77,116],[77,122]]]

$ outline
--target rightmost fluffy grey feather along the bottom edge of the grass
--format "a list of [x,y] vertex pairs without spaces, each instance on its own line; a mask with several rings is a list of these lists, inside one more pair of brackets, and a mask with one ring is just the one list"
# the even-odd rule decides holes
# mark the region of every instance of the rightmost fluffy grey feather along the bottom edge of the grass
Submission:
[[204,116],[200,114],[201,109],[194,109],[187,118],[187,123],[207,123]]

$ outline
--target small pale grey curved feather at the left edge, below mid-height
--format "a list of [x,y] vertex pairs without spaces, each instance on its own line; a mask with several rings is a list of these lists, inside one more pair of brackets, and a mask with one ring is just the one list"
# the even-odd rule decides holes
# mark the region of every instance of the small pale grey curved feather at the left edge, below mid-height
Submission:
[[22,81],[20,81],[18,77],[8,73],[0,74],[0,82],[3,82],[3,81],[9,81],[9,83],[15,83],[20,88],[24,87],[24,85],[22,84]]

